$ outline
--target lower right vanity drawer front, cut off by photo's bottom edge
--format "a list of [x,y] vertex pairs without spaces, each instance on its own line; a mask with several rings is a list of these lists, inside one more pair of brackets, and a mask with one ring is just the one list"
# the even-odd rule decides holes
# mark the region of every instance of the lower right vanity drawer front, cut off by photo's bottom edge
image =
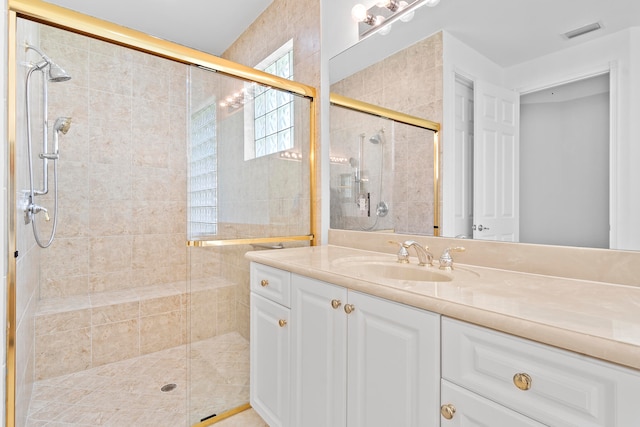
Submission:
[[515,411],[442,381],[442,405],[455,409],[451,419],[442,417],[440,427],[544,427]]

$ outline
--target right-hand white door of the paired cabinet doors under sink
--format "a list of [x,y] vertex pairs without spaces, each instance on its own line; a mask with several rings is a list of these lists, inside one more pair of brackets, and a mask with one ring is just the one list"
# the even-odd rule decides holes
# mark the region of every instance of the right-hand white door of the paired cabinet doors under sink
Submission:
[[439,316],[349,292],[347,425],[440,423]]

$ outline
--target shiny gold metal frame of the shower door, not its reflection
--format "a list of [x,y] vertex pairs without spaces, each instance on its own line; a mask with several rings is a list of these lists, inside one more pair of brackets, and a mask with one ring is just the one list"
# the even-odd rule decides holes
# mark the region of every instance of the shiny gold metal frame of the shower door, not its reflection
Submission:
[[274,241],[309,241],[313,246],[319,235],[314,202],[317,198],[316,168],[316,88],[267,74],[245,65],[241,65],[214,55],[200,52],[176,43],[161,40],[145,33],[103,21],[79,12],[72,11],[50,3],[37,0],[8,0],[8,37],[7,37],[7,283],[6,283],[6,390],[5,390],[5,425],[15,426],[16,405],[16,120],[17,120],[17,20],[24,18],[30,21],[49,25],[135,49],[150,55],[159,56],[186,65],[195,65],[235,78],[271,86],[288,91],[310,100],[309,108],[309,233],[298,236],[264,237],[255,239],[209,240],[202,242],[186,242],[188,246],[225,246],[247,243],[271,243]]

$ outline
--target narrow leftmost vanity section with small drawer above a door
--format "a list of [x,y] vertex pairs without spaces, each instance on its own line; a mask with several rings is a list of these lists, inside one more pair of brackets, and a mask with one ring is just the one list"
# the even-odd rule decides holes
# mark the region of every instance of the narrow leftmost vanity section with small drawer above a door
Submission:
[[271,427],[289,426],[291,274],[251,264],[250,402]]

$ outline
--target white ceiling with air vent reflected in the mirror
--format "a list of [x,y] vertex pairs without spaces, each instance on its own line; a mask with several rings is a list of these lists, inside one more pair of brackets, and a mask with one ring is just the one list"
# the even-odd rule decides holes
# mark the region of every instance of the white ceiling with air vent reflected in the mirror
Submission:
[[[638,0],[442,0],[416,15],[424,27],[446,29],[508,67],[596,37],[640,25]],[[594,22],[602,29],[567,40],[567,31]]]

